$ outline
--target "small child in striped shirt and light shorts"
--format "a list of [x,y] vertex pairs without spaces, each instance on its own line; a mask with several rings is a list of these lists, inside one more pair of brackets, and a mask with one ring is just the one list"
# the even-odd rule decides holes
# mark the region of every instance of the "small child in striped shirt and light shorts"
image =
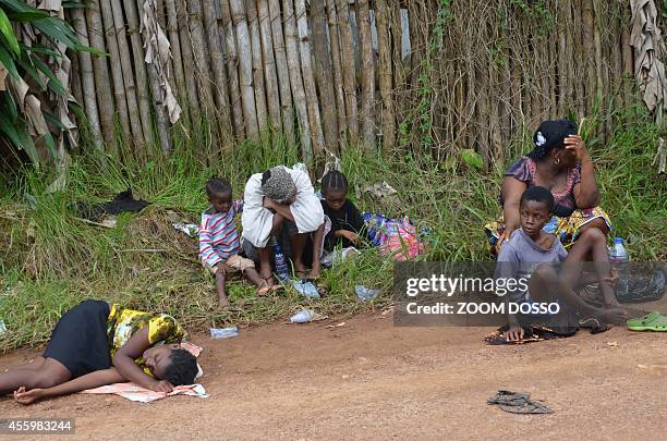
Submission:
[[231,184],[220,177],[213,177],[206,183],[206,194],[210,207],[202,213],[199,256],[202,264],[216,278],[220,307],[227,308],[229,305],[225,292],[228,270],[243,273],[257,285],[258,295],[266,294],[271,287],[257,273],[255,262],[239,255],[241,242],[234,216],[243,211],[243,200],[232,200]]

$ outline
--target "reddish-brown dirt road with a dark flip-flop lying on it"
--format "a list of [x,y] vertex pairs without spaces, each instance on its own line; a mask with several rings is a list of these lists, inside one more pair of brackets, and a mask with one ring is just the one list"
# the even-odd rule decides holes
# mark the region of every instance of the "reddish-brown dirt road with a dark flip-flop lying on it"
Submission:
[[[327,328],[344,321],[341,327]],[[484,328],[395,328],[379,315],[205,335],[210,397],[137,404],[74,395],[0,417],[74,417],[66,439],[659,439],[667,433],[667,340],[616,328],[524,346],[486,346]],[[0,358],[5,368],[34,353]],[[639,367],[638,365],[645,365]],[[555,411],[512,415],[498,389]]]

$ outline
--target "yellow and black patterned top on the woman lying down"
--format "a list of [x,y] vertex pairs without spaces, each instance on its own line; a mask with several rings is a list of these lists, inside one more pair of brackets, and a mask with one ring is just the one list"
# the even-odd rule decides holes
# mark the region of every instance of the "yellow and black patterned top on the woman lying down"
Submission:
[[[111,359],[116,351],[121,348],[132,335],[148,327],[148,343],[171,344],[180,343],[187,333],[175,319],[167,314],[142,313],[133,309],[125,309],[118,304],[111,305],[111,313],[107,319],[107,339],[109,341],[109,352]],[[150,370],[144,365],[144,358],[134,360],[149,376]]]

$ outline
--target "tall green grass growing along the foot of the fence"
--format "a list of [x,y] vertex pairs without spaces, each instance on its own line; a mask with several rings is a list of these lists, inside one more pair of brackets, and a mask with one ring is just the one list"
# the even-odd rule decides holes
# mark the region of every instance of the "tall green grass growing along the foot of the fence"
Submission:
[[[602,206],[611,216],[614,234],[628,238],[633,259],[664,260],[667,180],[651,166],[660,130],[640,107],[619,111],[615,121],[606,144],[593,136],[595,121],[589,126],[593,128],[587,146],[597,168]],[[196,240],[174,231],[165,210],[196,223],[207,206],[204,184],[210,176],[230,179],[234,197],[240,198],[252,173],[298,162],[299,148],[281,140],[246,142],[210,158],[204,152],[210,149],[202,147],[207,140],[193,133],[177,137],[169,159],[148,163],[75,157],[60,193],[47,193],[50,176],[34,170],[0,184],[4,187],[0,318],[9,329],[0,338],[2,350],[44,342],[62,311],[88,297],[169,313],[191,330],[286,319],[305,305],[320,314],[339,315],[384,307],[390,301],[392,261],[369,249],[324,272],[323,299],[305,301],[290,290],[278,297],[257,298],[252,286],[233,280],[228,286],[234,309],[218,311],[213,281],[197,262]],[[527,143],[508,147],[508,151],[529,149]],[[349,148],[341,160],[351,184],[350,198],[362,210],[408,215],[419,226],[433,229],[424,259],[487,258],[482,225],[499,215],[500,170],[484,174],[458,158],[437,163],[411,156],[368,157],[355,148]],[[398,204],[374,200],[361,191],[381,181],[398,191]],[[73,201],[108,200],[129,187],[151,206],[141,215],[119,216],[113,229],[86,223],[72,210]],[[379,287],[383,295],[362,303],[354,294],[356,284]]]

